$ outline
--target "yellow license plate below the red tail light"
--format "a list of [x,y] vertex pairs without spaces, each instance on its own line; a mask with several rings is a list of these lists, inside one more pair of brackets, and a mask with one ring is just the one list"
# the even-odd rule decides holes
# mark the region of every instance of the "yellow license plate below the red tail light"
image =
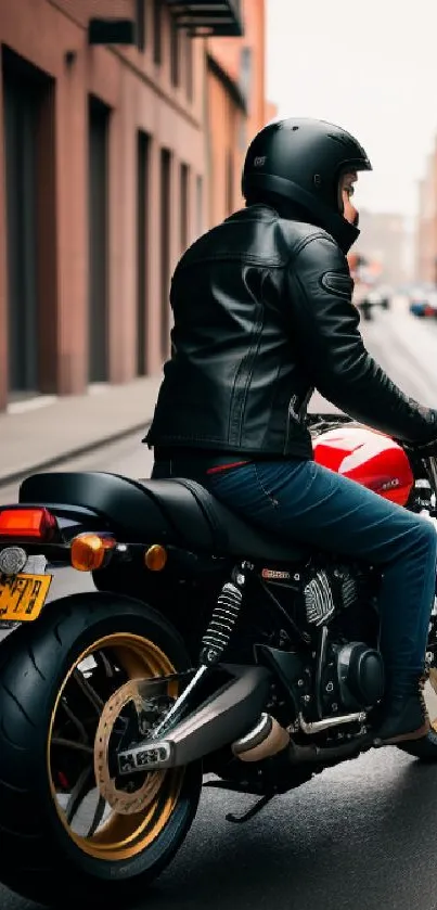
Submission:
[[51,575],[0,576],[0,620],[31,623],[38,619],[51,580]]

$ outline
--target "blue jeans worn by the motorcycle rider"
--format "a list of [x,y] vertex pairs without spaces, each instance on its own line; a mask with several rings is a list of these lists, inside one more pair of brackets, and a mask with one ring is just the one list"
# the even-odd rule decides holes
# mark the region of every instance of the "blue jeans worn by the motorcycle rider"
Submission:
[[[177,462],[171,473],[178,476]],[[258,461],[205,475],[204,486],[283,539],[378,566],[380,646],[388,688],[411,691],[424,668],[436,589],[437,534],[430,522],[313,461]]]

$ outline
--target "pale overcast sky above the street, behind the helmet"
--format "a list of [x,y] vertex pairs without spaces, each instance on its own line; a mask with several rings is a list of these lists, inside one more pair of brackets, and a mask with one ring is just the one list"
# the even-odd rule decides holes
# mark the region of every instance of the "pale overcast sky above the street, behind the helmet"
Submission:
[[339,124],[373,172],[357,201],[414,215],[437,132],[437,0],[266,0],[267,94],[279,114]]

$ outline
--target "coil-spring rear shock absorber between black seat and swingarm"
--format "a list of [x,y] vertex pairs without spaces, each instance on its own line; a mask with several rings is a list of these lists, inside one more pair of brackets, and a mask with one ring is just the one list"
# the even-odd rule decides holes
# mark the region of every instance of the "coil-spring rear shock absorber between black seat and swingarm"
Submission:
[[223,585],[217,598],[208,628],[202,639],[201,662],[207,667],[221,659],[231,640],[243,603],[246,567],[248,568],[248,564],[243,563],[233,571],[232,581]]

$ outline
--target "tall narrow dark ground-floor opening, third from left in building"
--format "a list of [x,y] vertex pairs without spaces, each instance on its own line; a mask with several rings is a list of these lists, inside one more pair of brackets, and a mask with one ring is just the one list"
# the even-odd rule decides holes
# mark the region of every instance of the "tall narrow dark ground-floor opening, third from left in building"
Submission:
[[147,373],[147,273],[149,273],[149,165],[150,138],[140,130],[137,138],[137,373]]

